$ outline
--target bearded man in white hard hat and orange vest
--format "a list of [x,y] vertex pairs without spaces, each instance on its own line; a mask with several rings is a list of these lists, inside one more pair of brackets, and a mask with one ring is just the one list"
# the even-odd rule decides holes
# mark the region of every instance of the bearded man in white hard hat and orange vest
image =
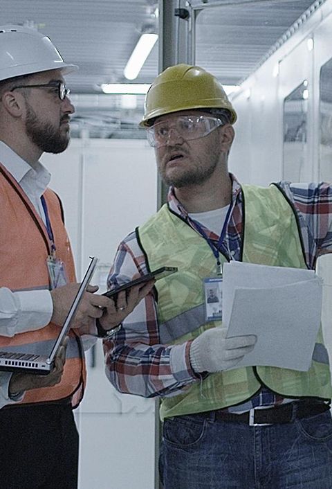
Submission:
[[[49,353],[78,290],[61,204],[39,162],[68,145],[64,74],[75,69],[45,35],[0,27],[0,349]],[[49,375],[0,373],[1,488],[77,487],[82,335],[111,335],[149,286],[119,294],[117,308],[89,286]]]

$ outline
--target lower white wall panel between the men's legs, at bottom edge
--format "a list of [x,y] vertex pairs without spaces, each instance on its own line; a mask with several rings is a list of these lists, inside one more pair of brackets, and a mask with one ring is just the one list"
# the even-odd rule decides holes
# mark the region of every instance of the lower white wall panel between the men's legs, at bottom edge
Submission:
[[80,489],[154,488],[153,412],[85,414],[80,433]]

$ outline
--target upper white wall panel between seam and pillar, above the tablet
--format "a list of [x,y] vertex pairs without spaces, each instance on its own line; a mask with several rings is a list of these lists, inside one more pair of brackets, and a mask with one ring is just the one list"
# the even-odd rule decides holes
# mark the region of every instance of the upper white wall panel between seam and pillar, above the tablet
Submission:
[[120,240],[156,211],[153,150],[145,141],[107,142],[84,151],[84,267],[91,253],[112,262]]

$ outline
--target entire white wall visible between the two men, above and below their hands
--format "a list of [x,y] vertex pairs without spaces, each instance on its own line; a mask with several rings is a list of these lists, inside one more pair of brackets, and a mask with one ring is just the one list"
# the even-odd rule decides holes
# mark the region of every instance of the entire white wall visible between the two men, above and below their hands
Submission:
[[[44,154],[42,161],[64,204],[77,276],[82,277],[89,255],[98,256],[92,283],[105,290],[120,240],[156,211],[154,152],[146,141],[82,139],[62,154]],[[75,411],[80,489],[152,489],[154,400],[113,389],[104,375],[100,340],[86,357],[86,393]]]

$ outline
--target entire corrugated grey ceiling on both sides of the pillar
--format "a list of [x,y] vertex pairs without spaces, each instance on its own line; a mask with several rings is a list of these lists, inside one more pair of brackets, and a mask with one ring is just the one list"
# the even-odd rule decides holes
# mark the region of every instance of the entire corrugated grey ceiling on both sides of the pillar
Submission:
[[[282,42],[296,21],[317,6],[312,0],[190,0],[204,7],[196,17],[196,64],[223,84],[237,85]],[[181,3],[182,5],[182,3]],[[124,66],[143,32],[158,33],[154,0],[0,0],[0,25],[19,24],[48,35],[66,62],[80,70],[68,75],[76,107],[72,135],[144,138],[138,130],[144,96],[102,94],[103,83],[150,84],[158,74],[158,42],[136,80]],[[286,33],[286,34],[285,34]]]

